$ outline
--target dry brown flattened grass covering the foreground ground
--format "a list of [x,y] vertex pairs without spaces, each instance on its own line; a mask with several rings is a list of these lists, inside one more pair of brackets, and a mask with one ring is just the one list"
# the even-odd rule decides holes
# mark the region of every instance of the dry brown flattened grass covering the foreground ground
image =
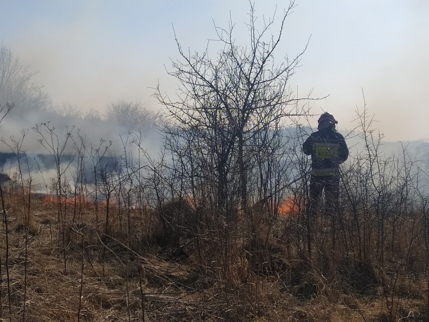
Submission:
[[399,276],[400,288],[392,293],[392,275],[390,284],[382,285],[365,280],[362,272],[333,270],[340,267],[342,253],[324,271],[323,261],[329,259],[318,256],[317,249],[310,260],[291,244],[291,218],[270,230],[261,223],[252,238],[236,231],[234,243],[215,229],[172,242],[163,239],[159,217],[150,212],[129,214],[128,236],[125,215],[120,223],[112,212],[105,236],[102,207],[98,222],[94,206],[87,205],[75,223],[68,208],[62,214],[67,220],[59,225],[57,206],[34,199],[25,225],[16,196],[5,201],[9,279],[3,222],[3,320],[428,320],[422,275]]

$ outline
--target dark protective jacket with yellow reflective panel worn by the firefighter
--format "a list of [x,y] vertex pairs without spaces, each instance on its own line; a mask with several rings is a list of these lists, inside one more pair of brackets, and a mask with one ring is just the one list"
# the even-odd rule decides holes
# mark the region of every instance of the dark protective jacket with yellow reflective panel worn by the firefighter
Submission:
[[332,128],[312,133],[303,144],[303,152],[311,155],[312,175],[336,175],[348,158],[344,137]]

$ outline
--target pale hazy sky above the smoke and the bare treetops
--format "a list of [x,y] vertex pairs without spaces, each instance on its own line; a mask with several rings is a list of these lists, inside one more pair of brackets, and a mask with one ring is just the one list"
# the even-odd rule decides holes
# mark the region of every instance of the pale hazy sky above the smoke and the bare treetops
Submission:
[[[251,1],[260,23],[276,6],[280,18],[289,4]],[[365,94],[386,140],[429,139],[429,2],[295,4],[274,55],[277,62],[295,56],[310,38],[291,85],[302,95],[329,95],[310,102],[312,111],[329,111],[339,128],[352,128]],[[203,51],[216,38],[213,22],[228,28],[231,16],[237,43],[246,45],[249,7],[247,0],[0,0],[0,41],[39,72],[34,80],[56,105],[102,112],[125,99],[159,109],[151,87],[159,82],[170,94],[176,88],[165,70],[178,58],[172,26],[182,47]]]

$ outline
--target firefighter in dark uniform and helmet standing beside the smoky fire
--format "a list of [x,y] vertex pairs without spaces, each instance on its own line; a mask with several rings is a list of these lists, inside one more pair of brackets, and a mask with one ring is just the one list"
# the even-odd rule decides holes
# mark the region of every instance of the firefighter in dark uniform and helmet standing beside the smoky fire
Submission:
[[[309,187],[309,215],[314,217],[315,208],[325,190],[326,214],[334,218],[338,211],[339,165],[348,158],[344,137],[335,128],[337,120],[328,112],[320,115],[317,132],[303,144],[303,152],[311,155]],[[314,220],[314,218],[312,218]]]

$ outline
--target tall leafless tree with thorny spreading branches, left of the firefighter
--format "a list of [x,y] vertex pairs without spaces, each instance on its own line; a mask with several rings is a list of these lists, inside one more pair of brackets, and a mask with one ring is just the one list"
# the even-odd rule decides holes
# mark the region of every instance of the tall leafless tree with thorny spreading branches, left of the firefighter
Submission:
[[[180,60],[173,61],[169,74],[179,82],[177,100],[161,93],[159,86],[156,89],[155,96],[170,116],[166,135],[177,138],[169,139],[167,144],[174,143],[170,146],[172,153],[187,159],[185,164],[193,160],[193,166],[205,176],[206,187],[216,186],[212,191],[220,210],[235,208],[229,202],[232,190],[237,189],[239,208],[247,213],[249,176],[254,164],[251,160],[261,152],[255,143],[273,143],[260,134],[276,135],[267,129],[279,128],[288,117],[306,113],[296,108],[299,98],[288,83],[305,48],[293,59],[286,56],[284,61],[274,63],[274,51],[293,8],[291,2],[273,36],[269,33],[275,15],[259,30],[250,4],[248,45],[236,44],[232,22],[228,29],[215,27],[216,41],[223,47],[215,59],[210,58],[208,46],[203,53],[185,52],[175,37]],[[181,147],[190,150],[186,153]]]

